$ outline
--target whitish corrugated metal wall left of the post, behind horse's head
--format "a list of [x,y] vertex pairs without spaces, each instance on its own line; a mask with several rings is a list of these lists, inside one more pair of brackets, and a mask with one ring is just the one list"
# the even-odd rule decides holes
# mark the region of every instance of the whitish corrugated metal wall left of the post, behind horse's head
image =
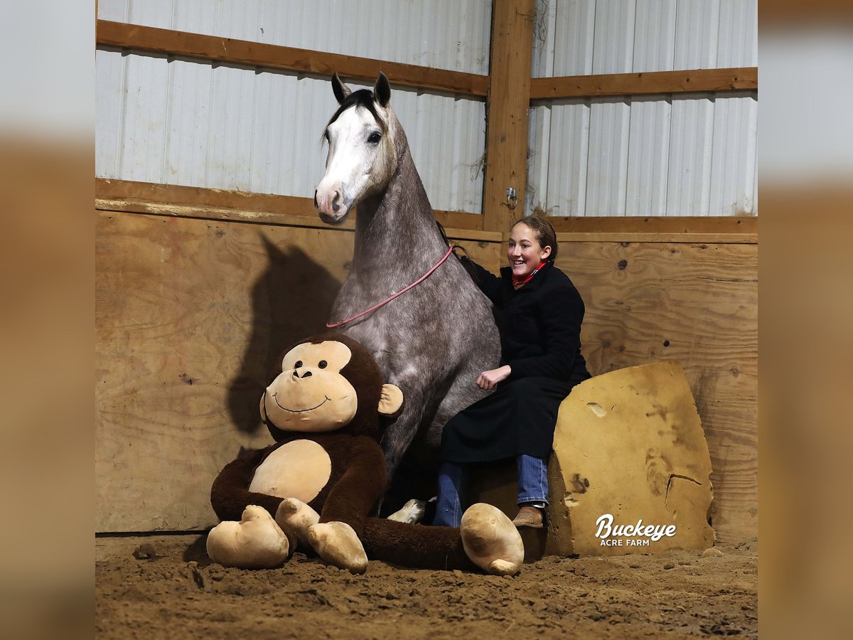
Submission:
[[[487,74],[491,3],[468,0],[100,0],[98,17]],[[99,50],[96,175],[311,197],[326,80]],[[351,83],[353,88],[360,85]],[[485,103],[395,90],[432,207],[479,212]]]

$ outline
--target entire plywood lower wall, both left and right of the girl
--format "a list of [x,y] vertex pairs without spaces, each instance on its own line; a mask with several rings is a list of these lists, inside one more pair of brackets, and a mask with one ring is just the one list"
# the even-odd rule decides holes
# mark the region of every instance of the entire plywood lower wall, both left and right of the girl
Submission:
[[[264,381],[285,346],[323,329],[353,233],[95,215],[96,531],[205,529],[219,469],[270,442]],[[502,265],[500,234],[450,236]],[[589,369],[679,360],[711,451],[718,539],[757,535],[757,245],[577,237],[560,235],[558,265],[586,301]]]

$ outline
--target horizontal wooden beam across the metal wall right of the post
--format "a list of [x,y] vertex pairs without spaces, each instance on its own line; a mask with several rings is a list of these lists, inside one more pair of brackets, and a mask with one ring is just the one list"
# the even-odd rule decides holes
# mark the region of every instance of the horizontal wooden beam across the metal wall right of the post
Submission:
[[605,73],[531,79],[531,100],[591,96],[643,96],[696,91],[757,90],[758,67]]

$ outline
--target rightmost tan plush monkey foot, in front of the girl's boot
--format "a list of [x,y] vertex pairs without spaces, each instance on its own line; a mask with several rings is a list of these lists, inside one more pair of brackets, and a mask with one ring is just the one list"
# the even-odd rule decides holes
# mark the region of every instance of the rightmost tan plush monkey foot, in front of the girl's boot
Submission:
[[525,560],[525,545],[518,529],[504,513],[490,504],[472,504],[462,514],[462,548],[485,573],[513,575]]

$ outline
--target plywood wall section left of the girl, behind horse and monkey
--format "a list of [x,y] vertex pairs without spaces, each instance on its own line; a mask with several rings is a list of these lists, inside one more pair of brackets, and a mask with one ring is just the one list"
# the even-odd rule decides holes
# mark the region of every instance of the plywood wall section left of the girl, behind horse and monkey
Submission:
[[[497,241],[448,231],[496,268]],[[325,330],[353,237],[96,212],[97,532],[216,522],[212,480],[241,446],[271,441],[258,419],[268,372]]]

